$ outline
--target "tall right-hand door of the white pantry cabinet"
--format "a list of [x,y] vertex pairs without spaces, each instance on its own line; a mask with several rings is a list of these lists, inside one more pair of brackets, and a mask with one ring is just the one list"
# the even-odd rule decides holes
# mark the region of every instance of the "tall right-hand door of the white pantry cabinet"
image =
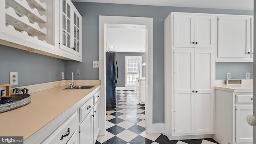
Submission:
[[195,132],[213,132],[214,53],[195,50]]

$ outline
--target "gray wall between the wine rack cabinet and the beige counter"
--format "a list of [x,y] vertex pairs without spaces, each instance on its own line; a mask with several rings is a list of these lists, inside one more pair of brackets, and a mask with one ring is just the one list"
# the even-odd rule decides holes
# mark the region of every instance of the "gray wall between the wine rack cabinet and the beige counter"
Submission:
[[61,79],[65,61],[0,45],[0,84],[9,84],[9,72],[18,72],[18,85],[27,86]]

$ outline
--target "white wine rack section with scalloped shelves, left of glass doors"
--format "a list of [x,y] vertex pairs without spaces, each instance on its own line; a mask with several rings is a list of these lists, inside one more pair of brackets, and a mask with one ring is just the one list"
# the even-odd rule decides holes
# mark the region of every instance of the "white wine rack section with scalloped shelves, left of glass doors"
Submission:
[[28,51],[56,50],[56,5],[56,0],[1,0],[1,44]]

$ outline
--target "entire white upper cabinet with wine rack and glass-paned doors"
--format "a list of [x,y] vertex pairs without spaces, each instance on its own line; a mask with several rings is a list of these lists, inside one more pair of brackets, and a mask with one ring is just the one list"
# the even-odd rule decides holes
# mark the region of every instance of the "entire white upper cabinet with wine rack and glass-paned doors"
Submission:
[[0,17],[0,44],[82,61],[82,16],[70,0],[0,0]]

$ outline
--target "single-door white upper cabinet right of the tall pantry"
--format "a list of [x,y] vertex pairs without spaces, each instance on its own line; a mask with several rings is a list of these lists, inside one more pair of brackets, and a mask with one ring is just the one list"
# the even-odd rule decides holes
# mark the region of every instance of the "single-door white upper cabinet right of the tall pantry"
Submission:
[[218,58],[250,58],[250,17],[218,16]]

